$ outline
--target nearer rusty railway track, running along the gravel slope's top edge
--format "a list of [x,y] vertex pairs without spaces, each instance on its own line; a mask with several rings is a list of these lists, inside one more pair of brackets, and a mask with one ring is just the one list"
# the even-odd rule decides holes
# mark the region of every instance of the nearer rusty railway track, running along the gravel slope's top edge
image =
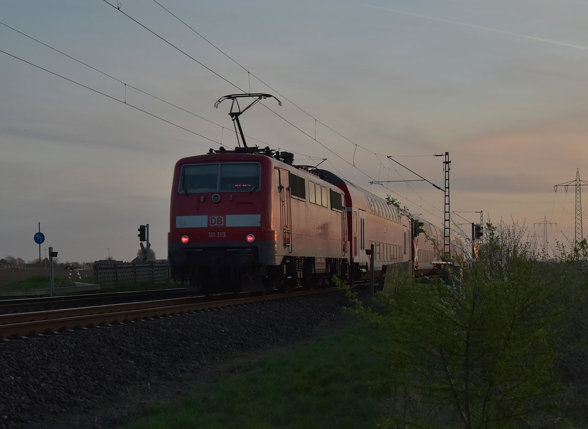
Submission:
[[56,333],[87,326],[104,326],[153,317],[175,316],[192,311],[255,304],[263,301],[303,297],[338,291],[337,287],[288,293],[242,293],[213,296],[184,296],[41,311],[0,314],[0,338]]

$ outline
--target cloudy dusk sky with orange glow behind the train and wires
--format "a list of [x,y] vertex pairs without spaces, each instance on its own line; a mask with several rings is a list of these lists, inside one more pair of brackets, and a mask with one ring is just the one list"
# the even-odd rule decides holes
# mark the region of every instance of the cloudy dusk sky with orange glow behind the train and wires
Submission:
[[391,156],[443,187],[432,155],[449,152],[455,223],[482,210],[574,239],[575,188],[553,185],[588,180],[588,1],[118,5],[0,2],[0,257],[36,259],[41,222],[42,257],[130,261],[149,223],[166,259],[173,166],[236,146],[230,102],[214,105],[241,92],[282,102],[243,113],[249,145],[326,158],[439,225],[435,187],[369,182],[418,179]]

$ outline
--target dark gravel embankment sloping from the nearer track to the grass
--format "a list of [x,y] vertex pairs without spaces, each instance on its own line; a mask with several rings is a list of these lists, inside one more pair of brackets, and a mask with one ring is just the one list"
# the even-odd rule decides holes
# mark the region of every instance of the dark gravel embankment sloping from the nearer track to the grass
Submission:
[[338,326],[342,294],[0,344],[0,429],[112,428],[149,401]]

